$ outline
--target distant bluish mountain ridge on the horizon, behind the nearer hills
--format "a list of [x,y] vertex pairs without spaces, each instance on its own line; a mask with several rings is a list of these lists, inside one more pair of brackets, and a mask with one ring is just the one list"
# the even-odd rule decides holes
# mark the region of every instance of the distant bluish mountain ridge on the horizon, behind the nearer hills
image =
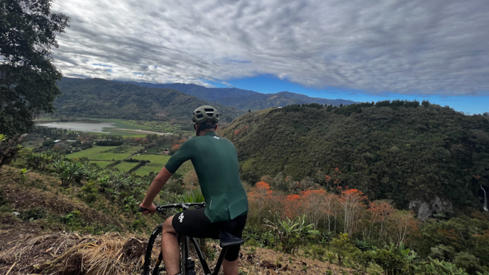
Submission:
[[143,87],[174,89],[184,92],[186,94],[197,96],[203,100],[216,102],[226,106],[232,106],[243,111],[263,110],[270,107],[282,107],[291,104],[317,103],[323,105],[340,106],[355,103],[355,101],[351,100],[309,97],[307,95],[293,92],[277,92],[265,94],[237,88],[206,88],[195,84],[184,83],[126,83],[131,83]]

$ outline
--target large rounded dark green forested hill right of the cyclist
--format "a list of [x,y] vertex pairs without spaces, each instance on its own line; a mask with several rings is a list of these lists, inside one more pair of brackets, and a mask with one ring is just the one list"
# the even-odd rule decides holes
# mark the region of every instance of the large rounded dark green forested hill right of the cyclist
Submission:
[[435,196],[479,207],[477,192],[489,185],[488,117],[426,101],[287,106],[243,115],[221,134],[236,145],[249,182],[268,175],[326,184],[329,175],[329,187],[339,180],[400,207]]

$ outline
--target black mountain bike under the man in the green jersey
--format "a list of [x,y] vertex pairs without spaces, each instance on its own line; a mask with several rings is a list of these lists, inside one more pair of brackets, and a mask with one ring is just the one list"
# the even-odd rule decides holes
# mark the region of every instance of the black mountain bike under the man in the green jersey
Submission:
[[[205,203],[177,203],[163,206],[156,206],[156,212],[165,213],[167,209],[189,209],[205,207]],[[139,211],[146,211],[144,208],[139,208]],[[146,254],[144,256],[143,274],[144,275],[161,275],[165,271],[165,267],[162,264],[163,255],[161,254],[161,231],[163,224],[156,226],[151,233],[146,247]],[[182,275],[196,275],[195,262],[190,255],[190,244],[192,244],[195,254],[197,255],[200,267],[204,275],[217,275],[221,269],[222,261],[230,246],[241,245],[244,240],[240,237],[234,236],[227,231],[220,231],[220,246],[222,248],[219,258],[216,263],[214,271],[211,272],[207,261],[200,249],[197,238],[189,237],[186,235],[178,234],[178,243],[180,246],[180,270]],[[202,274],[202,273],[200,273]]]

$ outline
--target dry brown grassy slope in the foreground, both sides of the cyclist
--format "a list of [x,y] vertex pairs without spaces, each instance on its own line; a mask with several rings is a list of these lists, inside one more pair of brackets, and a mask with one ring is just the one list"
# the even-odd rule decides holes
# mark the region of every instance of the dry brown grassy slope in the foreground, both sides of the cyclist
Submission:
[[[57,178],[28,172],[22,181],[20,175],[17,168],[0,168],[0,275],[82,274],[82,265],[94,274],[141,274],[147,229],[160,218],[128,215],[104,198],[92,207],[77,196],[80,186],[62,189]],[[71,219],[76,211],[79,216]],[[136,218],[145,233],[131,229]],[[70,230],[75,223],[82,224],[77,226],[81,232]],[[246,245],[242,252],[242,274],[353,274],[330,263]]]

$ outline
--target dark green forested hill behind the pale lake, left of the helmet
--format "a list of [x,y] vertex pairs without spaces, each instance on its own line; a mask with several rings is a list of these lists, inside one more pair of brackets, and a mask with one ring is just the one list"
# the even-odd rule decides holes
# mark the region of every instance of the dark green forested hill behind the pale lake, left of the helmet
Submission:
[[[63,93],[54,101],[59,115],[142,120],[191,118],[200,105],[211,104],[172,89],[156,89],[104,79],[64,77],[58,86]],[[244,114],[232,107],[214,104],[222,121],[231,122]]]

